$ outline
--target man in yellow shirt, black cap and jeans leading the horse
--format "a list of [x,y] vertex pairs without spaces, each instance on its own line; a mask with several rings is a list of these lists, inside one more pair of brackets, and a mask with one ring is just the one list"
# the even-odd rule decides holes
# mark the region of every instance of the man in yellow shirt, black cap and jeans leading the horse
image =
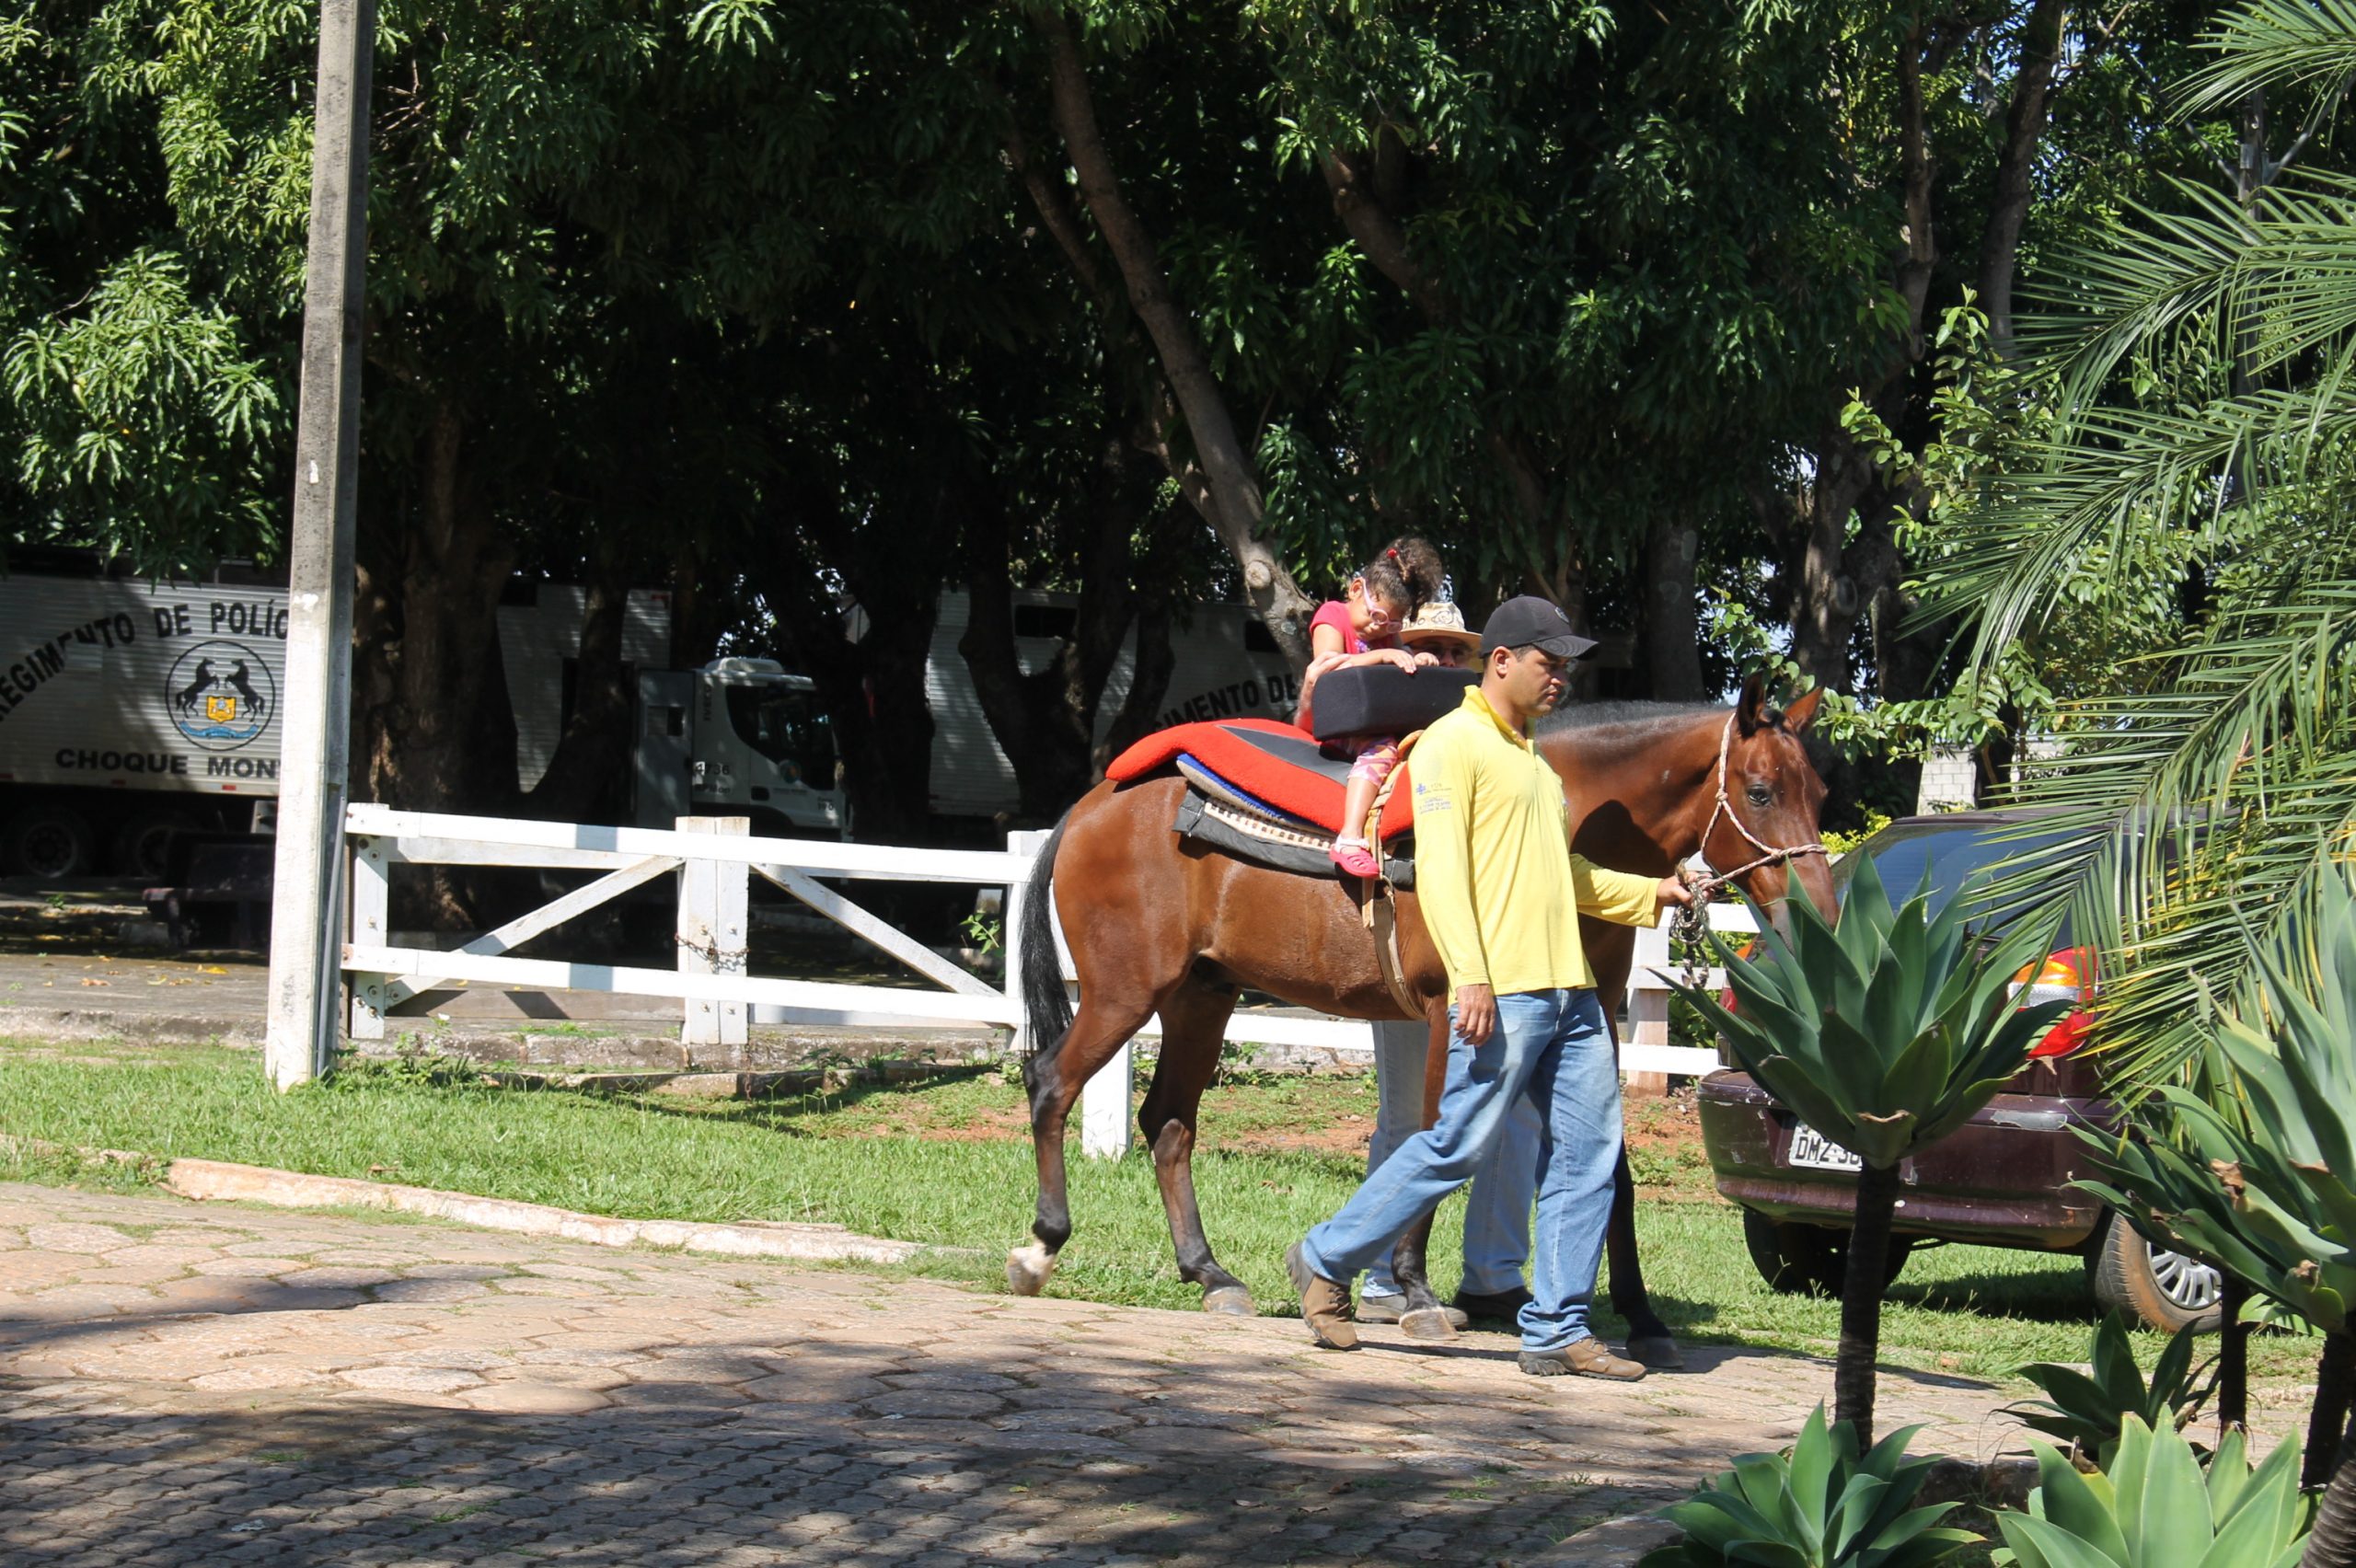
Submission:
[[1588,1330],[1621,1107],[1579,916],[1652,925],[1692,895],[1677,878],[1604,871],[1571,852],[1562,779],[1529,725],[1553,711],[1569,662],[1593,647],[1543,598],[1505,600],[1482,629],[1480,687],[1416,746],[1416,899],[1456,996],[1454,1038],[1437,1123],[1284,1255],[1301,1316],[1331,1349],[1357,1349],[1345,1281],[1472,1175],[1527,1092],[1543,1135],[1522,1370],[1644,1375]]

